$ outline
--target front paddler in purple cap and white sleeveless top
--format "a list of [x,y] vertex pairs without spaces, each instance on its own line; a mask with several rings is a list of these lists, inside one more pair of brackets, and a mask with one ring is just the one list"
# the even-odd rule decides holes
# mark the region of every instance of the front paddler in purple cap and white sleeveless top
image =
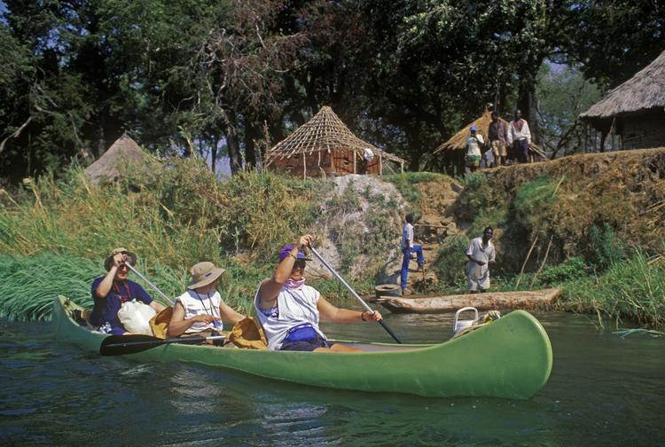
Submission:
[[279,251],[279,264],[272,278],[265,279],[254,298],[259,321],[268,338],[268,348],[316,352],[355,352],[340,343],[330,344],[318,327],[319,317],[334,323],[379,321],[379,312],[340,309],[327,302],[317,289],[305,285],[304,249],[312,237],[301,236]]

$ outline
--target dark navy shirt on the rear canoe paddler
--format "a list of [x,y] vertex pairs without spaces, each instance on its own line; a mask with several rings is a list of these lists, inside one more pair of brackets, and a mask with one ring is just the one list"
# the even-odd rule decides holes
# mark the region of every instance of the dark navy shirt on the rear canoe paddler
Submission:
[[145,304],[150,304],[153,302],[153,299],[145,292],[142,286],[129,279],[121,282],[113,281],[113,286],[111,286],[108,294],[104,298],[98,298],[95,290],[97,290],[99,283],[103,279],[104,277],[99,277],[92,281],[90,293],[92,294],[95,306],[90,313],[90,324],[99,327],[108,323],[111,325],[111,333],[125,333],[125,328],[122,327],[118,320],[118,310],[120,310],[122,303],[136,299],[137,301],[145,302]]

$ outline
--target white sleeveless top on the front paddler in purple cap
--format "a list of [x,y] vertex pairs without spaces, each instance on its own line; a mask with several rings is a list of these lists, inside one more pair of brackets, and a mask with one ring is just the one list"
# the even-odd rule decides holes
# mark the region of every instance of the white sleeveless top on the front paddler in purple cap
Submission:
[[314,330],[325,339],[324,333],[318,328],[317,302],[319,296],[317,289],[311,286],[303,285],[297,290],[288,289],[285,286],[279,291],[277,307],[263,310],[259,292],[256,291],[254,307],[268,338],[268,349],[280,349],[289,329],[302,323],[312,325]]

